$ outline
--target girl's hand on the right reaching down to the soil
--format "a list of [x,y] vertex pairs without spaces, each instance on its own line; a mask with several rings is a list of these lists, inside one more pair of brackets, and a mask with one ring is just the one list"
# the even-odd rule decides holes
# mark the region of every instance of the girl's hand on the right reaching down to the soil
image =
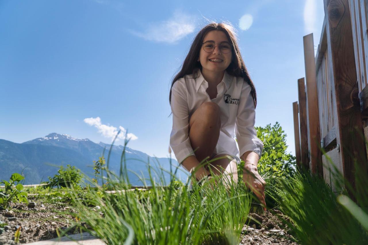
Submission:
[[266,182],[259,175],[257,167],[251,163],[247,163],[243,170],[243,181],[249,187],[254,195],[259,199],[261,205],[264,205],[263,210],[266,211],[265,201],[265,186]]

